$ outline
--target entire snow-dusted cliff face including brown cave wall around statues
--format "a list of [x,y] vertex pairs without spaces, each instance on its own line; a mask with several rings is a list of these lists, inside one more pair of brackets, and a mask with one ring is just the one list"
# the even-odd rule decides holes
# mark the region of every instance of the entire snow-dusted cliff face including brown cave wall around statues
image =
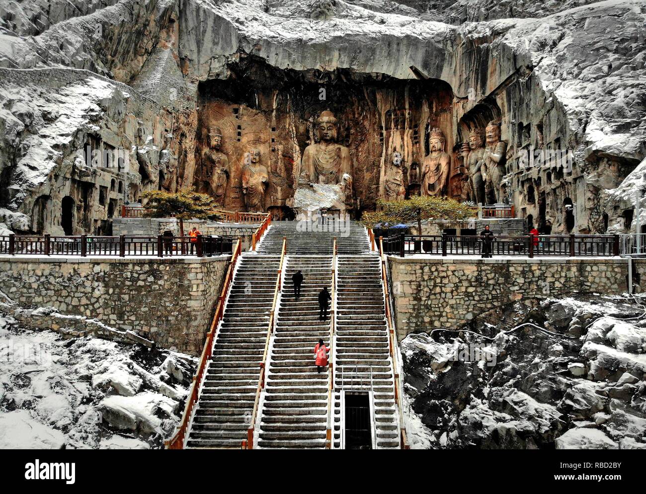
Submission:
[[[70,5],[0,8],[0,207],[31,218],[18,232],[107,233],[121,203],[160,187],[225,187],[222,205],[242,211],[247,147],[267,158],[264,206],[287,216],[295,169],[317,145],[315,116],[328,108],[342,123],[356,209],[375,207],[395,150],[406,194],[419,193],[435,127],[450,158],[446,194],[469,196],[457,143],[500,121],[495,201],[541,232],[641,227],[634,199],[601,192],[612,195],[646,152],[643,0]],[[115,82],[100,87],[101,76]],[[225,185],[221,168],[203,173],[212,127],[225,134]],[[122,149],[136,167],[84,170],[87,145]]]

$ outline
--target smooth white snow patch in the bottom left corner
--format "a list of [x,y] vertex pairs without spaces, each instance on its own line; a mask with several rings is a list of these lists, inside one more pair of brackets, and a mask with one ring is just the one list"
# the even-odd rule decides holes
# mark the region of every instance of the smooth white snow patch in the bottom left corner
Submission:
[[0,449],[61,449],[65,442],[65,434],[43,425],[27,410],[0,413]]

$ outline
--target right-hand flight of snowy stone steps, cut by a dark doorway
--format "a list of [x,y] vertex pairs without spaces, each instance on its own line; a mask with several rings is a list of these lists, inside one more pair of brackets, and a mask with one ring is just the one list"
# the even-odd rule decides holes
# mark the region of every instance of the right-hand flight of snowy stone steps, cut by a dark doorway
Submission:
[[341,389],[373,391],[376,446],[379,449],[399,448],[394,379],[379,257],[339,256],[335,448],[340,448]]

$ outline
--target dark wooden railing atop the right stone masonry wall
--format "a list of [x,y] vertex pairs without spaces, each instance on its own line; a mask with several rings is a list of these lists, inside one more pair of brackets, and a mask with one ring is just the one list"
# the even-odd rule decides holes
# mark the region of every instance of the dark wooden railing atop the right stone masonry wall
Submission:
[[[384,238],[390,254],[434,254],[439,256],[481,255],[483,238],[477,235],[405,235]],[[499,256],[618,256],[618,235],[518,235],[494,236],[492,254]]]

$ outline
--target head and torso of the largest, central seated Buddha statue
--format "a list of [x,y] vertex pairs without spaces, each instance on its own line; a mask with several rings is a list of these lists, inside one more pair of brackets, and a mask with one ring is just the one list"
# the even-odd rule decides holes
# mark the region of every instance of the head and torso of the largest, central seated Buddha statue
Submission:
[[337,185],[345,173],[352,174],[349,149],[336,142],[337,119],[332,112],[322,112],[316,125],[319,141],[305,148],[301,173],[307,172],[313,183]]

